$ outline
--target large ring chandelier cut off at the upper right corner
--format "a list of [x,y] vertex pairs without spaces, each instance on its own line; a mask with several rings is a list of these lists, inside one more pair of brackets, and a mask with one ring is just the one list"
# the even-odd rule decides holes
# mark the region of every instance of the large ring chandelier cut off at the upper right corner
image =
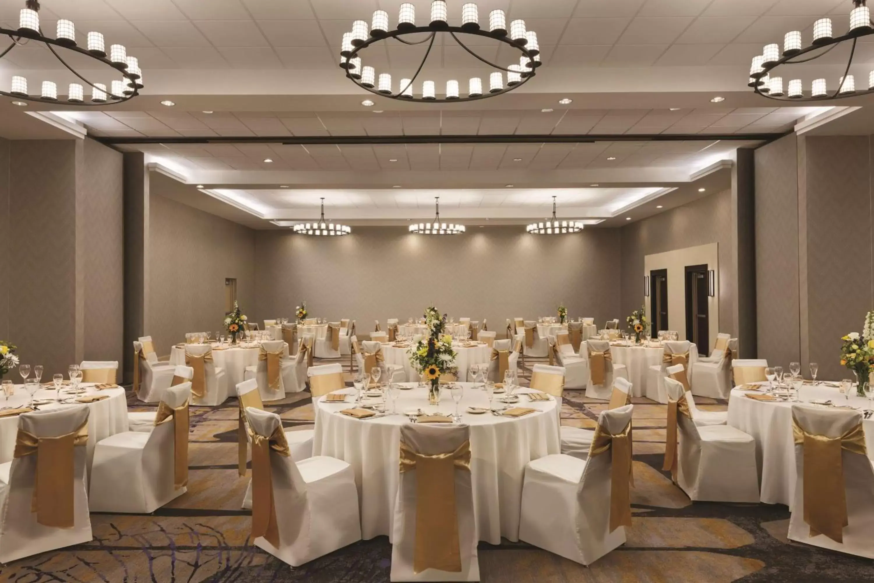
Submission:
[[[780,45],[773,43],[765,45],[762,54],[753,57],[750,66],[750,80],[747,84],[753,91],[769,99],[778,101],[822,101],[850,97],[860,93],[874,91],[874,71],[868,73],[868,87],[856,87],[856,80],[850,75],[850,66],[856,54],[856,43],[860,37],[874,34],[871,23],[871,10],[865,5],[865,0],[853,0],[853,10],[850,10],[850,28],[843,35],[834,36],[831,18],[820,18],[814,23],[814,35],[810,45],[801,45],[801,31],[789,31],[783,38],[783,51]],[[810,84],[810,90],[805,91],[801,79],[789,80],[783,87],[783,77],[777,76],[777,68],[784,65],[797,65],[819,59],[831,52],[837,45],[850,41],[850,58],[843,68],[843,75],[837,80],[837,88],[829,92],[825,79],[815,79]]]

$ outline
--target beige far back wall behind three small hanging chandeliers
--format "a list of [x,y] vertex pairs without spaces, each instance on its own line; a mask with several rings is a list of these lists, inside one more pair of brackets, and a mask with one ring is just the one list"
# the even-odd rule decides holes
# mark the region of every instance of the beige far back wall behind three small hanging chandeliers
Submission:
[[259,320],[294,317],[306,301],[312,316],[379,320],[419,316],[429,302],[451,316],[489,321],[502,334],[506,319],[568,314],[602,323],[619,317],[620,238],[616,229],[579,236],[538,237],[519,226],[473,228],[427,237],[404,227],[356,227],[337,239],[287,231],[257,233]]

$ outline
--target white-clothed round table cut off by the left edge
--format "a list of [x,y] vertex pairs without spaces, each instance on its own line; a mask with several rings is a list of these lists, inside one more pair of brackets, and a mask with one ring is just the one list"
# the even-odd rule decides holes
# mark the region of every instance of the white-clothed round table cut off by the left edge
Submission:
[[[91,466],[91,458],[94,455],[94,446],[98,441],[108,438],[110,435],[120,434],[128,431],[128,399],[125,398],[124,389],[117,387],[114,389],[103,389],[98,391],[91,388],[94,383],[82,383],[80,387],[86,389],[84,395],[72,395],[61,393],[61,399],[76,399],[77,397],[87,395],[105,395],[108,399],[94,401],[94,403],[86,403],[90,413],[88,414],[88,442],[86,445],[88,467]],[[64,388],[69,388],[65,385]],[[34,399],[52,399],[54,401],[57,393],[54,388],[39,389],[34,393]],[[24,385],[15,385],[15,394],[8,400],[2,401],[4,407],[24,407],[30,403],[31,397],[24,390]],[[40,411],[56,409],[58,407],[66,407],[76,405],[75,402],[70,404],[59,404],[52,402],[47,405],[40,405]],[[0,417],[0,463],[11,462],[12,456],[15,453],[15,441],[18,434],[18,416]]]

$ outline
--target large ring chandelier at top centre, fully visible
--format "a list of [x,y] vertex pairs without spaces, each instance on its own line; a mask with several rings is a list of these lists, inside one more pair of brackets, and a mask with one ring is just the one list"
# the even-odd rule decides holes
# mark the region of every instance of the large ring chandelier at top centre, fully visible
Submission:
[[[403,38],[417,33],[426,33],[427,36],[416,40]],[[447,80],[446,92],[442,97],[437,96],[433,80],[422,81],[420,86],[413,87],[422,67],[425,66],[428,55],[431,54],[438,33],[451,37],[462,49],[491,66],[495,71],[489,73],[485,80],[481,77],[469,79],[465,94],[461,93],[459,80]],[[490,62],[461,42],[459,37],[463,35],[495,38],[510,45],[519,52],[518,65],[503,67]],[[427,43],[427,50],[419,68],[411,77],[401,79],[397,85],[392,83],[392,73],[377,74],[374,67],[366,65],[366,57],[364,63],[362,62],[365,48],[389,38],[394,38],[404,45]],[[390,28],[388,13],[385,10],[376,10],[371,24],[367,24],[364,20],[353,22],[352,30],[343,33],[340,66],[345,69],[348,79],[371,94],[407,101],[472,101],[505,94],[530,80],[534,76],[535,69],[540,66],[540,48],[537,33],[526,30],[524,20],[513,20],[508,27],[507,16],[503,10],[489,12],[489,30],[484,31],[480,28],[479,12],[475,3],[466,3],[461,7],[461,25],[456,26],[449,24],[446,0],[434,0],[431,3],[431,18],[427,25],[416,24],[416,7],[412,3],[400,5],[398,26],[394,30]],[[504,80],[504,73],[507,73],[506,80]]]

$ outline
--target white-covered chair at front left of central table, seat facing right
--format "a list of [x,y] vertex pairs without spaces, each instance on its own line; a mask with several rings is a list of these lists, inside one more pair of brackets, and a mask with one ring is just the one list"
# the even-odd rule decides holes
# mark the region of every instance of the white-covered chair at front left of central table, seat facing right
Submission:
[[349,463],[324,455],[295,462],[275,413],[246,407],[246,422],[253,439],[254,545],[301,566],[361,540]]

